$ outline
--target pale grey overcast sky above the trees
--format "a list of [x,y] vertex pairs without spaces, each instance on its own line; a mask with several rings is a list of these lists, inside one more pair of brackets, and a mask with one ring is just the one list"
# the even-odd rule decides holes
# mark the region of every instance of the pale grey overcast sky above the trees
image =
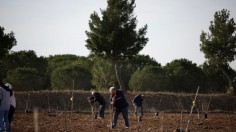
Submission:
[[[85,47],[91,13],[107,7],[107,0],[0,0],[0,26],[13,31],[13,51],[34,50],[38,56],[87,56]],[[140,54],[163,66],[186,58],[198,65],[200,34],[209,32],[216,11],[227,9],[236,21],[236,0],[136,0],[138,26],[148,25],[149,41]],[[236,61],[231,67],[236,69]]]

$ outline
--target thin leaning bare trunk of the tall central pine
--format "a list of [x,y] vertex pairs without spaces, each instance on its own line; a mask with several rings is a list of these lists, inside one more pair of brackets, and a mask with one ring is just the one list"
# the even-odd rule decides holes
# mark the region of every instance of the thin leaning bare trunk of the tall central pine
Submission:
[[115,60],[115,61],[113,61],[113,63],[114,63],[114,69],[115,69],[115,73],[116,73],[116,79],[119,83],[120,89],[122,89],[124,92],[126,92],[124,82],[122,81],[122,78],[121,78],[121,72],[119,69],[120,68],[119,62],[117,60]]

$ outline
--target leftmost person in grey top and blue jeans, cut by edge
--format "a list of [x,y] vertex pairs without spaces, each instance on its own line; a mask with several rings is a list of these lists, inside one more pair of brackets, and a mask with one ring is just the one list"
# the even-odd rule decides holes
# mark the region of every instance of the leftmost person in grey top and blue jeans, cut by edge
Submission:
[[8,111],[10,109],[10,89],[0,81],[0,132],[4,131],[4,123],[6,132],[10,131],[8,121]]

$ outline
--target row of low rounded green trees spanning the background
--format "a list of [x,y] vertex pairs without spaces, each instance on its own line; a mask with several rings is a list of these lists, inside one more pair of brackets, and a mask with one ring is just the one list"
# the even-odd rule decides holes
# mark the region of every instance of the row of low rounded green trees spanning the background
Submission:
[[[113,63],[97,56],[72,54],[37,57],[32,50],[10,52],[1,59],[3,81],[16,91],[35,90],[107,90],[118,85]],[[197,65],[187,59],[176,59],[161,66],[148,55],[124,60],[119,69],[127,90],[225,93],[228,81],[214,65]],[[226,67],[236,76],[235,70]]]

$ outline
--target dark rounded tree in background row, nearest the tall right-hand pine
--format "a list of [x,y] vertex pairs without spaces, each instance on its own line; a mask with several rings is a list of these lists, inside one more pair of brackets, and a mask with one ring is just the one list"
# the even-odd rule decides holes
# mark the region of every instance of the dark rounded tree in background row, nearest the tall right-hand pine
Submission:
[[196,92],[196,88],[202,86],[202,69],[187,59],[173,60],[166,64],[164,70],[171,79],[174,92]]

